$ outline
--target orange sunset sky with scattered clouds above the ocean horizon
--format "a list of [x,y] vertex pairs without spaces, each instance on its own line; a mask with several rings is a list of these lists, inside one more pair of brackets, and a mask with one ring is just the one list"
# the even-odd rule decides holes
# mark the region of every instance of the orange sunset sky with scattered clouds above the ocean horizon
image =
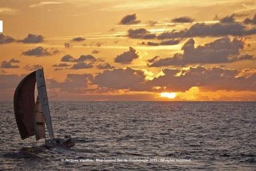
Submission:
[[[256,101],[255,1],[1,0],[0,100]],[[54,96],[54,97],[52,97]]]

